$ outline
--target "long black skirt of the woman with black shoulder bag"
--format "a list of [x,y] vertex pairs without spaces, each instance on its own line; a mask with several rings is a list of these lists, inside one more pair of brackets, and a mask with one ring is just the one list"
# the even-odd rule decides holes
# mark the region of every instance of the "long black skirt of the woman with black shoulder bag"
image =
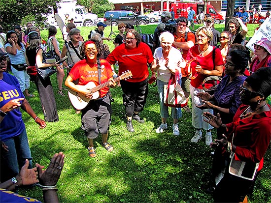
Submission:
[[44,120],[48,122],[57,121],[57,105],[50,77],[47,77],[44,80],[43,78],[36,76],[35,85],[39,94]]

